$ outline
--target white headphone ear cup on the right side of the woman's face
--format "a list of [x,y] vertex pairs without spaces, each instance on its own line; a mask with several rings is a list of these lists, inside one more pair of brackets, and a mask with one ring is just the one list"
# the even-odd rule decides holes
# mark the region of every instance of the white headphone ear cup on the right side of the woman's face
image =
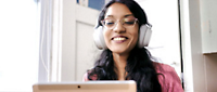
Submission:
[[148,47],[148,45],[149,45],[149,42],[150,42],[151,35],[152,35],[151,27],[148,26],[146,24],[145,24],[145,25],[142,25],[142,26],[140,27],[140,30],[139,30],[138,47],[139,47],[139,48]]

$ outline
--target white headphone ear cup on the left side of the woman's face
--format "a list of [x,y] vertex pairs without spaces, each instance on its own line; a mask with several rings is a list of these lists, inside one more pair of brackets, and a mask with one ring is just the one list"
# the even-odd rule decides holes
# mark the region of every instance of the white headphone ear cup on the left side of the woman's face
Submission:
[[99,26],[98,28],[94,29],[93,32],[93,40],[98,49],[100,50],[105,50],[107,49],[104,37],[103,37],[103,28],[102,26]]

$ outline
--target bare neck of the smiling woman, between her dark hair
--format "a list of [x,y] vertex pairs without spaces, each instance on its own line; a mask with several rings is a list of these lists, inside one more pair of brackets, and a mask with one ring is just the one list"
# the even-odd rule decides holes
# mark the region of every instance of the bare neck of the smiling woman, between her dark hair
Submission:
[[114,60],[114,64],[115,64],[115,71],[118,76],[118,80],[125,80],[126,77],[126,70],[125,67],[127,65],[127,58],[129,55],[120,55],[120,54],[115,54],[113,53],[113,60]]

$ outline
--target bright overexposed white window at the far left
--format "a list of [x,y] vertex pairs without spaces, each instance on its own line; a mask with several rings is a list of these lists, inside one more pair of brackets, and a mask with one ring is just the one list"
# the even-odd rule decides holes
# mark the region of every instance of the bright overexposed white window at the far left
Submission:
[[31,92],[38,81],[37,2],[3,0],[0,11],[0,92]]

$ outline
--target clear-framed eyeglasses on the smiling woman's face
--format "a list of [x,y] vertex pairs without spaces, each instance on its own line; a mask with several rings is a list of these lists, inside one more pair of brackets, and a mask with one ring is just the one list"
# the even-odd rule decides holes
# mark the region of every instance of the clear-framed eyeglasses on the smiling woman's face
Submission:
[[125,17],[122,19],[114,19],[114,18],[105,18],[103,21],[101,21],[102,25],[106,28],[106,29],[113,29],[115,28],[115,26],[117,25],[117,23],[120,22],[120,24],[125,27],[125,28],[130,28],[133,27],[135,24],[138,22],[137,18],[135,17]]

